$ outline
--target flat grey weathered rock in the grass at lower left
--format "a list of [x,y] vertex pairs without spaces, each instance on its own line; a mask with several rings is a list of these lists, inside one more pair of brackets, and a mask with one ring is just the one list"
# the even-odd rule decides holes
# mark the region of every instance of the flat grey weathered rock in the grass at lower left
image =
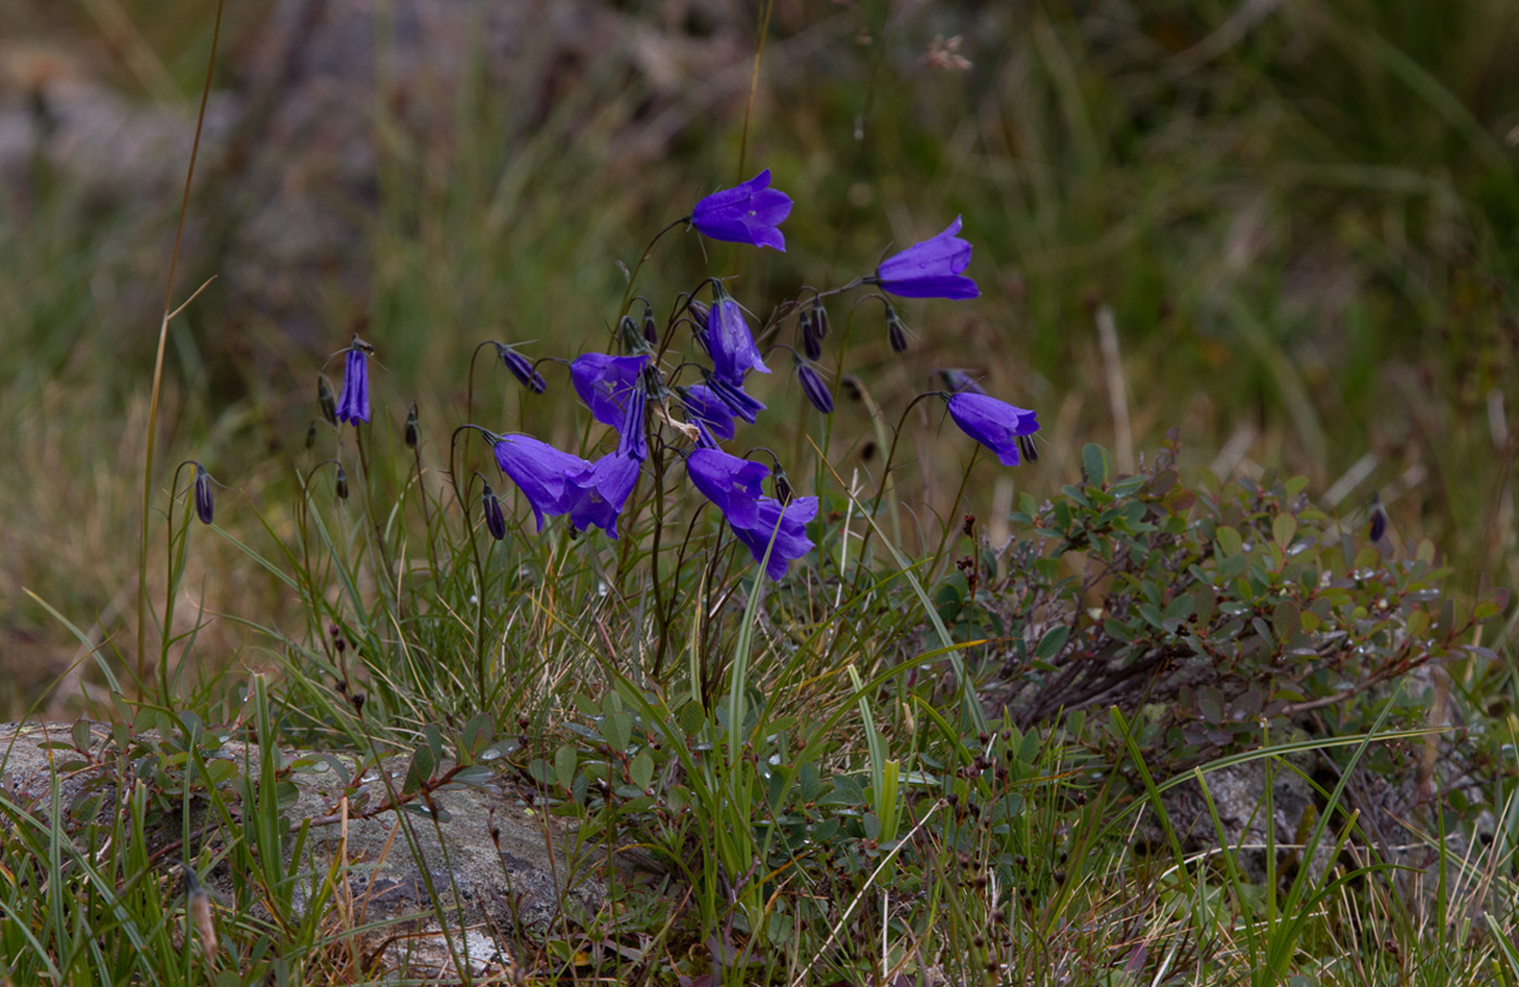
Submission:
[[[85,809],[96,808],[91,814],[96,821],[108,820],[125,811],[120,793],[131,791],[135,780],[155,784],[155,768],[182,747],[182,738],[166,744],[158,735],[144,733],[123,756],[111,727],[93,724],[88,753],[81,753],[73,747],[71,729],[61,723],[0,726],[0,782],[12,805],[47,818],[56,776],[59,815],[76,838],[82,838],[85,823],[91,821],[81,817],[81,799],[100,796],[97,808]],[[49,749],[49,743],[65,747]],[[258,777],[258,746],[234,739],[217,744],[207,738],[199,749],[208,752],[208,764],[226,759],[235,765],[220,790],[240,811],[237,779]],[[456,957],[463,964],[466,955],[474,975],[500,970],[510,955],[512,932],[542,929],[561,919],[573,922],[592,914],[603,900],[605,884],[592,870],[605,864],[605,850],[577,852],[571,831],[532,809],[529,800],[497,773],[478,785],[434,793],[433,802],[447,818],[410,809],[384,809],[362,818],[365,793],[371,806],[389,800],[374,767],[358,771],[352,755],[289,749],[279,750],[279,764],[293,768],[284,777],[296,790],[293,805],[283,814],[289,835],[310,823],[298,866],[296,902],[310,900],[336,867],[337,891],[327,897],[324,908],[331,911],[333,922],[351,926],[384,922],[384,928],[362,937],[365,952],[384,954],[383,967],[451,976]],[[340,777],[339,764],[348,777]],[[409,758],[386,759],[396,790],[404,782],[407,764]],[[434,777],[448,767],[447,762],[439,765]],[[354,776],[362,787],[352,791],[345,815],[345,788]],[[178,881],[181,858],[210,859],[240,835],[238,823],[234,820],[229,831],[219,815],[207,811],[205,799],[194,800],[193,806],[190,853],[178,846],[184,831],[178,812],[164,814],[146,834],[166,881]],[[281,862],[286,867],[295,843],[293,838],[284,843]],[[228,855],[226,861],[231,859]],[[232,900],[228,862],[204,879],[223,905]]]

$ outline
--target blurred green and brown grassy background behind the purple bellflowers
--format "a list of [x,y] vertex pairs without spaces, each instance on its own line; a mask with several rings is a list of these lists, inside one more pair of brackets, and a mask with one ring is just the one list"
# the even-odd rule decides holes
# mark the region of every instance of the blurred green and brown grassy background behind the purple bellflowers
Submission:
[[[1179,427],[1192,469],[1302,472],[1349,519],[1381,490],[1399,539],[1434,539],[1458,585],[1519,582],[1519,5],[782,2],[747,135],[753,5],[368,6],[240,3],[223,23],[175,296],[219,279],[172,325],[156,486],[199,459],[237,536],[266,538],[249,504],[279,527],[316,367],[352,331],[378,348],[389,427],[415,399],[437,466],[477,342],[602,346],[614,261],[770,167],[797,203],[788,252],[709,244],[761,319],[965,216],[983,298],[904,305],[910,360],[861,305],[843,371],[899,407],[928,369],[971,367],[1037,408],[1024,489],[1071,481],[1083,442],[1123,463]],[[131,648],[147,390],[213,5],[0,0],[0,24],[9,718],[85,654],[23,588]],[[639,287],[667,311],[705,270],[674,237]],[[565,402],[523,401],[494,366],[475,387],[480,424],[573,440]],[[772,405],[791,392],[773,381]],[[843,466],[867,453],[851,421],[829,448]],[[943,510],[934,457],[957,469],[969,449],[936,434],[921,422],[916,456]],[[279,585],[245,557],[211,539],[193,556],[181,612],[279,620]],[[257,661],[245,641],[219,621],[199,648]]]

